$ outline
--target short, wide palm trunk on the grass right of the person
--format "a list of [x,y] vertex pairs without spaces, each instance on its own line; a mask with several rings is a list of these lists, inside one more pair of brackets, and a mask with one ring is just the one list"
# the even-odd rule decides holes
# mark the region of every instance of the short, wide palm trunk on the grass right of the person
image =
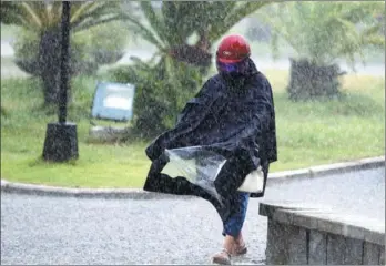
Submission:
[[308,100],[339,94],[341,82],[337,64],[317,65],[306,59],[291,61],[291,76],[287,92],[291,100]]

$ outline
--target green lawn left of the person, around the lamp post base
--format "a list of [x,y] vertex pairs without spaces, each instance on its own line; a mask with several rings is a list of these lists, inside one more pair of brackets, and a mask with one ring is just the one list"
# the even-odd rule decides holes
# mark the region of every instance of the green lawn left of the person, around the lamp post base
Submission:
[[[35,80],[7,80],[1,84],[1,105],[9,116],[1,117],[1,177],[52,185],[118,187],[141,186],[149,162],[144,143],[131,145],[88,144],[91,95],[94,80],[73,83],[74,104],[70,121],[78,124],[80,158],[53,164],[40,160],[47,123],[58,120],[52,110],[42,111]],[[142,177],[142,178],[141,178]]]

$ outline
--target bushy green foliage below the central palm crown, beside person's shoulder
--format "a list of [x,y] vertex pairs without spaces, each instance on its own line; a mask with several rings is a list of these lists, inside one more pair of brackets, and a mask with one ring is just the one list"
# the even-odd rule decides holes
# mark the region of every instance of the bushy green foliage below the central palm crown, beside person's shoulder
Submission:
[[138,136],[153,137],[171,129],[186,100],[200,89],[201,75],[195,68],[174,62],[181,72],[174,76],[182,79],[172,80],[165,76],[167,63],[173,62],[150,66],[138,61],[110,71],[110,81],[135,84],[133,133]]

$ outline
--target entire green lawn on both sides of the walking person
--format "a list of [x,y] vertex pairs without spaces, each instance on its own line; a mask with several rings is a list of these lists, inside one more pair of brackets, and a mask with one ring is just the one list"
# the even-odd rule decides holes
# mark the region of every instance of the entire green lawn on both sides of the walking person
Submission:
[[[385,82],[370,76],[344,78],[341,100],[293,103],[287,100],[285,71],[267,71],[274,89],[278,162],[272,172],[294,170],[369,156],[385,151]],[[80,158],[45,163],[42,154],[47,123],[54,110],[41,108],[39,82],[2,80],[1,177],[17,182],[78,187],[141,187],[150,162],[148,143],[94,144],[88,142],[88,115],[96,79],[73,81],[74,104],[69,120],[78,124]],[[112,123],[113,124],[113,123]]]

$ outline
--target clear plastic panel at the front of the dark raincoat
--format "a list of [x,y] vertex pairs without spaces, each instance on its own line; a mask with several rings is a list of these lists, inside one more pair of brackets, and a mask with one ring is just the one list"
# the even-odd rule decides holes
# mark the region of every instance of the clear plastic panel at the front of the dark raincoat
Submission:
[[171,177],[183,176],[221,202],[214,181],[226,163],[224,156],[202,146],[165,150],[165,155],[169,163],[162,173]]

